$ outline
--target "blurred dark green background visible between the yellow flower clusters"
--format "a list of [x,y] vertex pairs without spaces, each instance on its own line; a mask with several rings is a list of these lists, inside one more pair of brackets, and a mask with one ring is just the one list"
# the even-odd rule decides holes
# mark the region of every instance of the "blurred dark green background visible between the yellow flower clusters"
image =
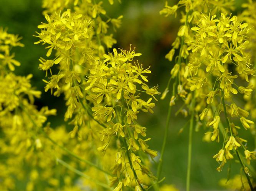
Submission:
[[[8,28],[8,32],[19,34],[23,37],[21,42],[24,48],[15,48],[16,59],[21,62],[21,66],[16,68],[15,73],[27,75],[32,73],[32,85],[43,92],[41,99],[36,100],[38,108],[48,105],[50,108],[57,108],[58,117],[50,117],[52,126],[61,125],[66,111],[63,97],[53,97],[50,92],[44,91],[45,73],[38,69],[38,58],[44,57],[46,50],[42,45],[34,45],[37,39],[33,37],[37,31],[37,25],[45,21],[40,0],[0,0],[0,27]],[[174,4],[176,1],[170,1]],[[241,10],[242,0],[236,1],[238,11]],[[152,86],[159,85],[159,91],[163,92],[170,76],[170,69],[174,63],[168,62],[164,57],[171,49],[171,44],[177,36],[179,28],[179,18],[172,16],[165,18],[159,15],[165,0],[123,0],[121,4],[109,5],[106,1],[107,13],[112,18],[124,15],[123,24],[114,33],[117,39],[115,47],[129,49],[130,44],[136,47],[136,52],[142,53],[140,62],[144,66],[151,65],[152,74],[149,81]],[[4,6],[3,6],[4,5]],[[160,151],[164,136],[164,126],[167,116],[168,102],[170,95],[165,100],[156,103],[155,113],[141,114],[140,123],[148,128],[147,135],[152,138],[149,144],[152,149]],[[179,134],[181,128],[189,120],[181,114],[176,117],[178,107],[173,108],[171,127],[169,129],[166,152],[164,155],[163,175],[166,177],[164,183],[174,184],[178,189],[185,189],[187,170],[187,147],[188,147],[188,127]],[[205,129],[199,129],[193,133],[192,150],[192,190],[221,190],[218,184],[221,178],[227,177],[227,168],[231,165],[231,177],[239,174],[240,167],[234,161],[226,164],[222,172],[217,172],[218,163],[212,156],[215,155],[220,145],[216,142],[205,143],[202,138]],[[246,134],[252,139],[252,136]],[[251,141],[253,142],[253,141]],[[254,145],[251,145],[254,148]],[[235,167],[236,166],[236,167]],[[155,167],[152,167],[155,171]]]

